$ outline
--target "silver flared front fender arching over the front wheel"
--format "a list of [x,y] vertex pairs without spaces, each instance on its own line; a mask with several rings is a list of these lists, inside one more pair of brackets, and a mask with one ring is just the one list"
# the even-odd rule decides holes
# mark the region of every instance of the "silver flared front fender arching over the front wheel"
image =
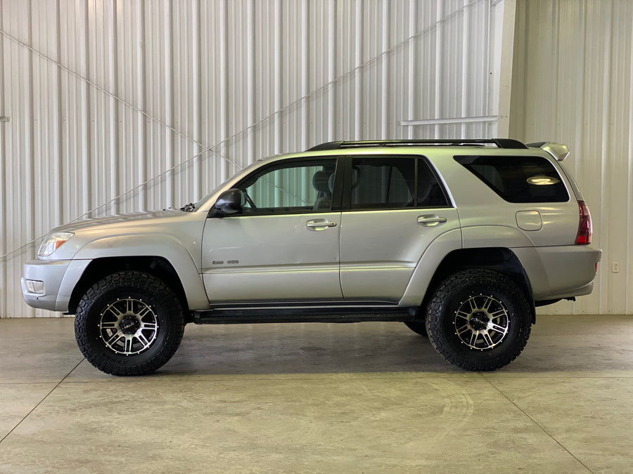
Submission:
[[206,309],[209,300],[191,253],[175,237],[165,234],[117,235],[96,239],[83,246],[73,260],[108,257],[158,256],[165,258],[180,279],[191,310]]

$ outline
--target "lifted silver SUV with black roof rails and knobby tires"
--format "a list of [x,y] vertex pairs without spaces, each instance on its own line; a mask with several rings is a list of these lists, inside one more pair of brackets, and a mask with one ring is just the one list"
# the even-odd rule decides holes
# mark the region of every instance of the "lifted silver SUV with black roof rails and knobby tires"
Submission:
[[24,298],[75,314],[108,374],[155,371],[188,322],[404,322],[452,364],[499,369],[535,306],[592,291],[601,251],[567,154],[387,140],[263,159],[180,211],[54,229]]

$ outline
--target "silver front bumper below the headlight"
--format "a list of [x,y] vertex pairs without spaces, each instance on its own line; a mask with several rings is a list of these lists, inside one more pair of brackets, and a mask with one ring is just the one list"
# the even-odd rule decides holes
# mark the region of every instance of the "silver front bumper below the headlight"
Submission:
[[[89,263],[89,260],[34,260],[25,263],[22,278],[24,301],[33,308],[68,311],[72,289],[75,288]],[[27,280],[44,282],[44,293],[30,291]]]

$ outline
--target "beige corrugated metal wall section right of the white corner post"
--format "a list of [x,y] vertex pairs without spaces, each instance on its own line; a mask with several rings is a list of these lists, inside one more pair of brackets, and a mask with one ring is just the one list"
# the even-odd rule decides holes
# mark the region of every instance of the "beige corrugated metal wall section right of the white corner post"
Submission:
[[569,145],[603,249],[594,293],[541,312],[633,314],[633,2],[519,0],[513,65],[510,133]]

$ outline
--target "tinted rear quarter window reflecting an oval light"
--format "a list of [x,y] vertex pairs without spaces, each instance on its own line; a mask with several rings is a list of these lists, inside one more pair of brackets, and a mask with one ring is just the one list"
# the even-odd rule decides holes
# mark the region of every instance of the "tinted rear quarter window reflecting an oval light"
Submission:
[[554,166],[542,157],[458,156],[455,161],[508,202],[567,202]]

